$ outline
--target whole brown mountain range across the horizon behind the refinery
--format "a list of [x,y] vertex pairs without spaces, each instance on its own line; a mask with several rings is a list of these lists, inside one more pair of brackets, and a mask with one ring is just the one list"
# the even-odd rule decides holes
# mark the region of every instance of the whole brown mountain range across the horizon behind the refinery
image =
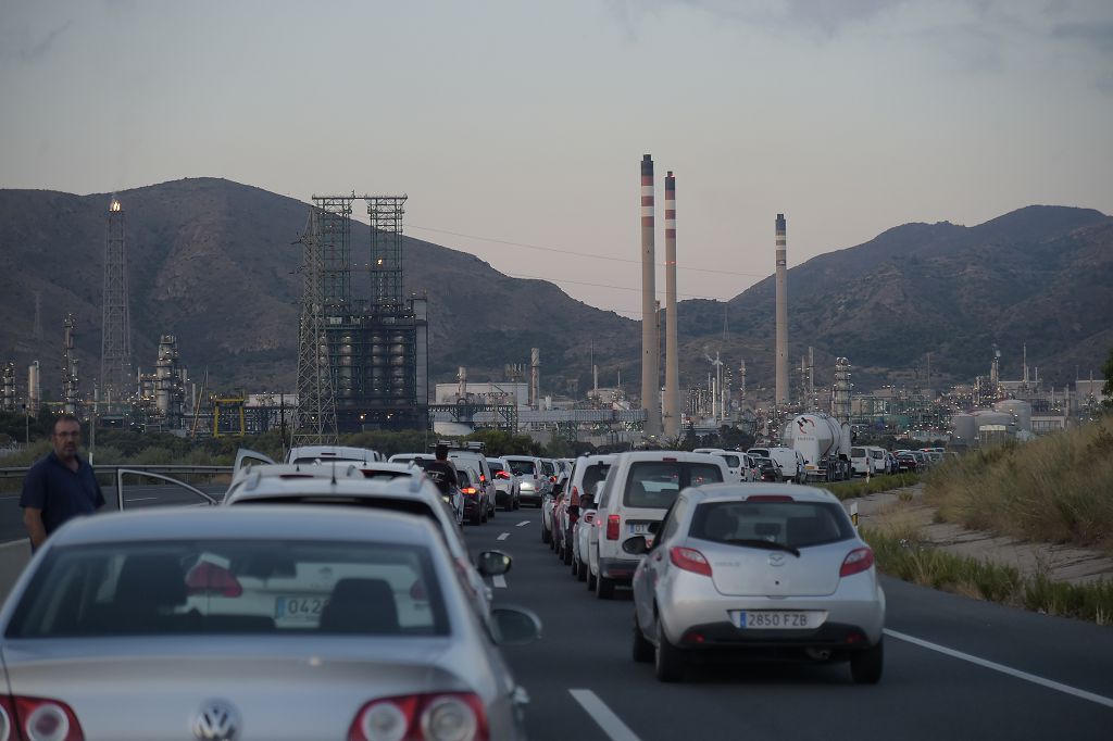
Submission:
[[[297,365],[297,273],[306,204],[214,178],[115,194],[127,219],[132,355],[149,372],[159,335],[177,336],[195,379],[211,387],[290,389]],[[0,363],[43,391],[60,386],[62,320],[78,323],[82,386],[99,374],[106,213],[111,195],[0,190]],[[353,254],[370,228],[353,223]],[[789,255],[791,256],[791,241]],[[770,235],[770,250],[772,235]],[[590,358],[637,388],[640,324],[578,302],[551,283],[510,278],[466,253],[403,237],[405,290],[430,300],[431,374],[499,381],[541,348],[543,393],[581,392]],[[1113,346],[1113,219],[1032,206],[974,227],[907,224],[788,271],[791,364],[815,349],[816,383],[835,357],[858,388],[1020,377],[1022,346],[1040,376],[1062,386],[1101,367]],[[774,278],[727,303],[681,302],[681,383],[700,384],[718,353],[745,360],[749,389],[772,386]],[[35,336],[36,293],[41,336]],[[663,322],[662,322],[663,324]],[[930,359],[928,359],[930,354]],[[22,391],[20,391],[22,393]]]

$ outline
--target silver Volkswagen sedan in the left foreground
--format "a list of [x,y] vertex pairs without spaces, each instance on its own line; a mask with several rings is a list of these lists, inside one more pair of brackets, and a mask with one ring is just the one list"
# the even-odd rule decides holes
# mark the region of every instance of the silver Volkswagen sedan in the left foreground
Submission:
[[[480,559],[492,575],[511,564]],[[539,633],[523,610],[485,623],[425,517],[79,517],[0,610],[0,717],[39,740],[521,739],[524,693],[498,643]]]

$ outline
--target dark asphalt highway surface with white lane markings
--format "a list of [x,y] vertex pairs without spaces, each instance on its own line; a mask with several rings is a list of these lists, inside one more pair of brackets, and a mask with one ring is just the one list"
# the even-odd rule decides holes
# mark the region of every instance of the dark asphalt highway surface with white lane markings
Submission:
[[[106,492],[106,495],[109,493]],[[136,506],[170,504],[167,487],[128,490]],[[26,546],[18,497],[0,500],[4,592]],[[16,520],[13,520],[16,518]],[[500,511],[464,528],[473,554],[514,557],[496,604],[535,611],[540,641],[504,654],[531,702],[532,739],[1109,739],[1113,630],[885,579],[886,668],[856,685],[846,664],[745,664],[689,671],[666,685],[630,658],[632,601],[597,600],[540,539],[540,511]],[[26,540],[23,541],[26,543]]]

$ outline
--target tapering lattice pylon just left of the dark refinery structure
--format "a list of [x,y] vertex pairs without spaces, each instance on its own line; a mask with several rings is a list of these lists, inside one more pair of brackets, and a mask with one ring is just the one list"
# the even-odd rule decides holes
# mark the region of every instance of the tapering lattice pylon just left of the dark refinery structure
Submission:
[[[311,207],[301,239],[305,250],[298,317],[297,411],[292,425],[292,445],[328,445],[337,441],[336,397],[325,334],[325,264],[321,236],[326,223],[332,223],[331,215],[316,206]],[[329,248],[334,246],[335,243]]]

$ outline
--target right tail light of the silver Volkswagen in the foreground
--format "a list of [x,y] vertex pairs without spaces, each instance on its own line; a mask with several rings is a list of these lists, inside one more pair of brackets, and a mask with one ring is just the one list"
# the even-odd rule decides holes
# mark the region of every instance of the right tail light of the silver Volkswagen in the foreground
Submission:
[[470,692],[373,700],[348,730],[348,741],[487,741],[483,702]]

